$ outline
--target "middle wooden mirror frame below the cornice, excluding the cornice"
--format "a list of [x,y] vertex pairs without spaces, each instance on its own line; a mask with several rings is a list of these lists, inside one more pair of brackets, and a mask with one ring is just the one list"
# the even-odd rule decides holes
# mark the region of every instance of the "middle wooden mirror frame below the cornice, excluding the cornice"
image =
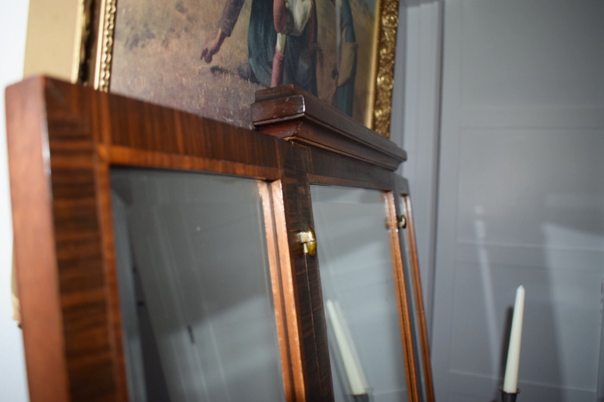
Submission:
[[[408,389],[408,400],[419,401],[417,394],[417,375],[413,339],[411,331],[410,309],[405,286],[402,250],[400,248],[397,215],[395,210],[396,192],[395,175],[393,172],[372,166],[368,163],[351,160],[330,151],[294,143],[294,155],[298,172],[300,188],[300,209],[303,224],[306,228],[314,228],[312,199],[310,186],[313,184],[344,186],[380,190],[385,201],[384,219],[390,236],[390,251],[393,260],[394,284],[397,294],[397,310],[399,312],[400,336],[405,362],[405,380]],[[321,248],[321,239],[317,239],[317,247]],[[333,400],[332,372],[327,342],[326,316],[321,289],[320,267],[316,256],[306,255],[307,275],[311,286],[311,300],[317,350],[320,356],[321,397],[323,400]]]

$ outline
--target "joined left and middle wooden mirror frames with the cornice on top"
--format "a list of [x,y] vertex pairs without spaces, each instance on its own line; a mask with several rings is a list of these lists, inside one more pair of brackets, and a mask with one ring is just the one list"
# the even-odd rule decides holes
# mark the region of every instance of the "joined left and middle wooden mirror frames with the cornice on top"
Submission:
[[406,153],[394,143],[294,86],[257,93],[252,119],[270,135],[47,77],[9,87],[6,99],[31,401],[128,398],[112,166],[259,181],[288,402],[334,398],[318,262],[298,237],[313,227],[310,185],[384,192],[408,392],[410,401],[420,399],[422,349],[414,346],[408,290],[419,274],[408,278],[403,266],[403,182],[394,171]]

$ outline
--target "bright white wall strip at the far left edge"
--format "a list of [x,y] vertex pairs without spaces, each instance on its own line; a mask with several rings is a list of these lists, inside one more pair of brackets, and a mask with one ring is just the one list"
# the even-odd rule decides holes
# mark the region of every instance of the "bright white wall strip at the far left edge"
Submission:
[[23,72],[28,1],[8,1],[0,13],[0,400],[27,401],[27,383],[21,330],[13,321],[10,299],[13,230],[8,166],[4,88],[19,81]]

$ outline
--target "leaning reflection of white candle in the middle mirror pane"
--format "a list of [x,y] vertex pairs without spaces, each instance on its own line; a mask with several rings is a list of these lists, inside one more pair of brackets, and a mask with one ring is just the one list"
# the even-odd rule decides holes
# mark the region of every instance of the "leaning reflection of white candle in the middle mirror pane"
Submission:
[[367,394],[367,380],[361,369],[361,363],[358,361],[352,339],[349,339],[347,328],[339,315],[335,303],[327,300],[325,303],[327,317],[332,324],[333,334],[335,335],[336,344],[338,345],[339,354],[342,357],[344,371],[350,385],[352,395]]

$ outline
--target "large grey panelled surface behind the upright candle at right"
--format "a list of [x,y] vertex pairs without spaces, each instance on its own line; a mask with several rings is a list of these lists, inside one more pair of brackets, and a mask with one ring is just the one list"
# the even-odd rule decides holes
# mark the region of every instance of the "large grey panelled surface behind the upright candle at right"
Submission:
[[594,401],[604,2],[445,0],[444,10],[437,400],[496,397],[510,307],[524,284],[519,399]]

